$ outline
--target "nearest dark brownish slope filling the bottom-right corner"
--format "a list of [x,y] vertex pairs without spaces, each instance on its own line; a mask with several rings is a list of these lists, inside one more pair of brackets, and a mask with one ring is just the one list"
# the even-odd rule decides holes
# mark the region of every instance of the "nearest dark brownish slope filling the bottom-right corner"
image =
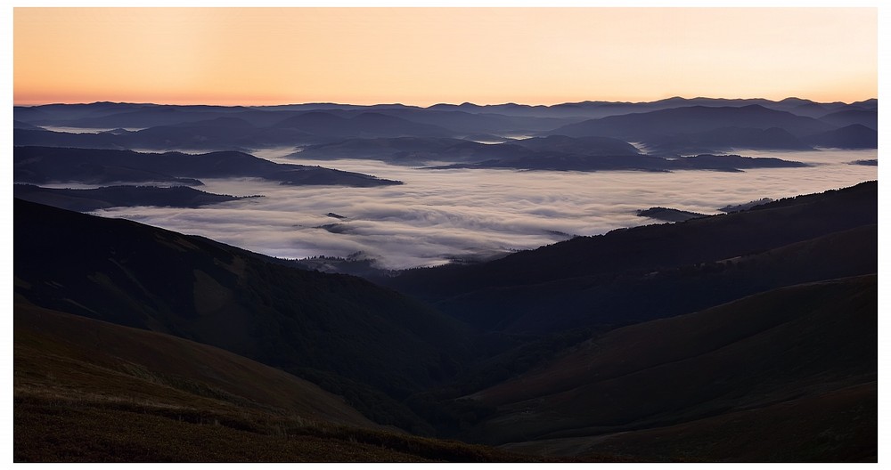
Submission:
[[874,461],[877,288],[828,280],[613,330],[472,395],[497,407],[475,435],[558,455]]

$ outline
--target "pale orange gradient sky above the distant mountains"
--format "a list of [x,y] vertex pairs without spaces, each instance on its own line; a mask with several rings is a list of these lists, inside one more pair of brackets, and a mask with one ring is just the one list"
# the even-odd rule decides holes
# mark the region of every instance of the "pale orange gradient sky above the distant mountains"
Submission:
[[15,104],[878,97],[876,8],[25,8]]

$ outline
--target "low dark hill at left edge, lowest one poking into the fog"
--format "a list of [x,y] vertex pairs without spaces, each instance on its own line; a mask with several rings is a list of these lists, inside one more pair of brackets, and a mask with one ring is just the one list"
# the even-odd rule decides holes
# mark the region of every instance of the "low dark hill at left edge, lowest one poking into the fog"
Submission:
[[213,194],[186,186],[105,186],[88,190],[41,188],[33,184],[16,184],[13,196],[47,206],[78,212],[107,207],[159,206],[201,207],[257,196],[238,197]]

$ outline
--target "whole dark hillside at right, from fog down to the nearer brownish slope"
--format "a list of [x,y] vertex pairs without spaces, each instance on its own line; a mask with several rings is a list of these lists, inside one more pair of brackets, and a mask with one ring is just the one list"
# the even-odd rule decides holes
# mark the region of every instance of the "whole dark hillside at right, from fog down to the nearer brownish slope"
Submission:
[[[489,263],[405,271],[380,282],[484,329],[541,334],[640,321],[874,272],[877,214],[877,184],[865,182],[729,215],[576,237]],[[781,247],[801,250],[800,257],[777,261],[772,250]],[[725,263],[740,256],[755,258]]]

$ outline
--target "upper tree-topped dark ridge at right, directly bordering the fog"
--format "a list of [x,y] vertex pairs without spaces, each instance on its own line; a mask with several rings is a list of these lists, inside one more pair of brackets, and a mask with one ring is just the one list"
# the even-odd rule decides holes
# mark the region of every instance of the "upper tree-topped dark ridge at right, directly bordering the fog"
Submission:
[[405,271],[384,281],[413,295],[444,299],[481,288],[715,262],[876,223],[877,219],[878,183],[863,182],[733,214],[576,237],[489,263]]

